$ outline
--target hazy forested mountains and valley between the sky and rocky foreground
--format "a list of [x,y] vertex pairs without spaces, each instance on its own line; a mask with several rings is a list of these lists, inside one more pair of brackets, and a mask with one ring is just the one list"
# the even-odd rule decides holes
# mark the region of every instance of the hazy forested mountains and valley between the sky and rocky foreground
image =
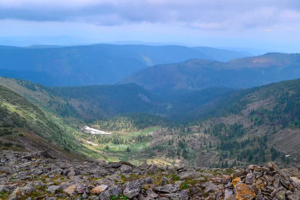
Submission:
[[[203,58],[236,52],[110,44],[0,51],[0,72],[13,77],[0,77],[2,148],[178,167],[299,167],[299,54],[223,62]],[[203,57],[172,63],[190,55]],[[105,63],[111,67],[98,67]],[[88,85],[106,76],[118,84]]]

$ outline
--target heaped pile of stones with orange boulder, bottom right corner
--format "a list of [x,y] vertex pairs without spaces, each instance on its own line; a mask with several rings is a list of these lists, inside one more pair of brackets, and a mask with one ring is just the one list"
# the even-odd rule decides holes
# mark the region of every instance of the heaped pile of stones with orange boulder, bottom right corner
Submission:
[[225,190],[226,199],[296,200],[300,199],[299,178],[289,177],[273,162],[260,167],[249,165],[231,175],[232,182]]

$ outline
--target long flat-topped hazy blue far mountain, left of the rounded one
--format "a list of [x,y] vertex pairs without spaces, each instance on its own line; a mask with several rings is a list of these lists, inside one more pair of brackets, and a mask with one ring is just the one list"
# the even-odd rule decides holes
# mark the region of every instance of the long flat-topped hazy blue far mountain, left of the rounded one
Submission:
[[[0,47],[0,54],[0,68],[20,71],[9,77],[24,78],[22,71],[40,71],[51,77],[42,83],[61,86],[108,84],[150,65],[209,58],[194,49],[175,45]],[[33,76],[27,78],[37,81]]]

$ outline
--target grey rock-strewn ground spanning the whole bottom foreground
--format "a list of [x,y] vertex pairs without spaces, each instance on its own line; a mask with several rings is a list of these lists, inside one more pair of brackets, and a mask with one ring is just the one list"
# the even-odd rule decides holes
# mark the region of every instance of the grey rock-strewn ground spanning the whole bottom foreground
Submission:
[[69,162],[46,152],[1,150],[0,199],[300,199],[299,171],[166,168],[126,161]]

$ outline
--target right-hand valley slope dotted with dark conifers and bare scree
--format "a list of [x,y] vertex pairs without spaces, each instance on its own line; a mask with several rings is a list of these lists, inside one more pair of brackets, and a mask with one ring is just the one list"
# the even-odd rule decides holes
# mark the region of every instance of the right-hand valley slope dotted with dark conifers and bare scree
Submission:
[[274,161],[300,167],[299,85],[295,79],[239,90],[182,113],[188,126],[161,128],[148,145],[156,160],[168,163],[226,167]]

